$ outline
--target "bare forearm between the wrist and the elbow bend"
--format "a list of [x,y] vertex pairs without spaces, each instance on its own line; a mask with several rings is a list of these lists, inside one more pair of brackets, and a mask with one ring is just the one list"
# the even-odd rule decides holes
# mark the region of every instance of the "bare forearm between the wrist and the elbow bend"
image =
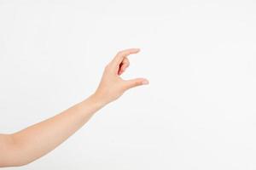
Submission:
[[15,164],[27,164],[54,150],[103,106],[103,103],[92,95],[44,122],[12,134],[14,148],[11,157],[16,160]]

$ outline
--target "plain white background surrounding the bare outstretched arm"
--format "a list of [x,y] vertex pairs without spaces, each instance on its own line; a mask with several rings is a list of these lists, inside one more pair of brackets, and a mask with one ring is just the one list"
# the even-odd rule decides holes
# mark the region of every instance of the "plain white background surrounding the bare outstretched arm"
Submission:
[[60,147],[10,169],[256,169],[254,0],[0,0],[0,133],[85,99],[123,48],[147,77]]

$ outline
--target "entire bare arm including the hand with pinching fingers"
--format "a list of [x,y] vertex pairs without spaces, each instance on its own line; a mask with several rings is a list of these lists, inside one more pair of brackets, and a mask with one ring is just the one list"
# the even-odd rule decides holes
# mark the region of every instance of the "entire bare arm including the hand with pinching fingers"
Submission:
[[0,134],[0,167],[24,166],[46,155],[126,90],[148,84],[145,78],[124,80],[120,77],[130,65],[128,55],[138,52],[138,48],[130,48],[116,54],[105,67],[95,93],[77,105],[17,133]]

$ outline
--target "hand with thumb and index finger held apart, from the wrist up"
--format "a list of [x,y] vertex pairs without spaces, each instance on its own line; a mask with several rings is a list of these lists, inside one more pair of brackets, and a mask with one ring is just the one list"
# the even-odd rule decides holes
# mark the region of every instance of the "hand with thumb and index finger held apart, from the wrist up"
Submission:
[[127,58],[128,55],[137,54],[139,51],[138,48],[120,51],[113,60],[106,65],[99,87],[96,89],[95,94],[93,94],[97,99],[101,100],[104,105],[118,99],[127,89],[148,84],[148,80],[145,78],[124,80],[119,77],[130,65],[129,59]]

